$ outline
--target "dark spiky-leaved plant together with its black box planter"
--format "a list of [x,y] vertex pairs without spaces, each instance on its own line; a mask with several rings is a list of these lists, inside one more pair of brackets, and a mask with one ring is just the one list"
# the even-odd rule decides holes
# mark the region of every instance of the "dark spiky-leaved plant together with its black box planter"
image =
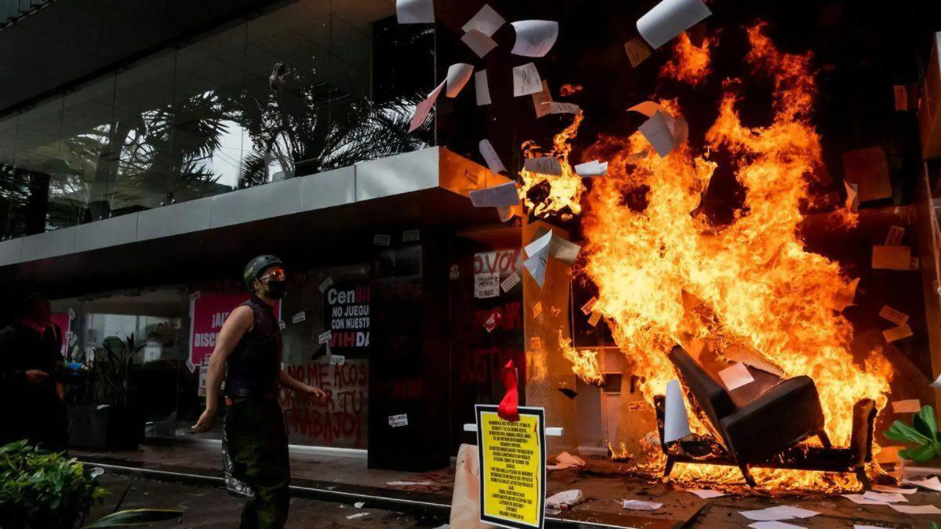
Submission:
[[136,351],[134,335],[126,342],[110,337],[87,359],[85,379],[68,395],[70,446],[107,450],[139,446],[144,421],[136,409],[132,378]]

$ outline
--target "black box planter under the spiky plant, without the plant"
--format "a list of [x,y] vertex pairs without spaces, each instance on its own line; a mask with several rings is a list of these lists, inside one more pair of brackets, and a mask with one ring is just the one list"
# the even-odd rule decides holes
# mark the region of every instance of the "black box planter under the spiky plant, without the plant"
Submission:
[[73,448],[136,450],[144,438],[144,421],[126,406],[70,406],[69,422]]

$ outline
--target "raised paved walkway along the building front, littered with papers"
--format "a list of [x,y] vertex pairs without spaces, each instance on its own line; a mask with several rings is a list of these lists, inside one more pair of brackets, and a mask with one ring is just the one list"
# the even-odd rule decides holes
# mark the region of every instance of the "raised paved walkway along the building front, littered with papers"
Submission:
[[[221,484],[222,461],[217,447],[200,444],[151,444],[136,451],[73,451],[80,459],[102,463],[109,473],[128,473],[152,479]],[[607,460],[587,459],[585,469],[549,473],[547,493],[582,489],[588,501],[558,515],[547,515],[547,526],[578,524],[643,529],[747,527],[738,511],[791,505],[818,511],[796,525],[811,529],[853,529],[854,524],[892,529],[928,528],[941,524],[941,515],[901,514],[888,505],[856,505],[832,494],[793,494],[772,497],[746,487],[726,489],[728,495],[702,500],[673,483],[626,473],[625,467]],[[351,457],[292,456],[292,492],[296,497],[341,503],[369,501],[379,508],[420,516],[447,518],[454,484],[453,469],[430,473],[371,470],[366,460]],[[391,482],[420,485],[396,486]],[[624,499],[645,500],[663,506],[655,511],[625,510]],[[941,506],[941,493],[917,492],[906,496],[909,505]],[[793,523],[795,521],[788,521]]]

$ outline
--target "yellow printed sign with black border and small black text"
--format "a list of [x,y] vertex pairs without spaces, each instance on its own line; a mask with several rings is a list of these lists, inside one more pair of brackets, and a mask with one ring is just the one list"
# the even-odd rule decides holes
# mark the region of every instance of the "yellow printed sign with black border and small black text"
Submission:
[[545,411],[520,408],[504,421],[496,406],[478,405],[481,521],[527,529],[542,527],[546,498]]

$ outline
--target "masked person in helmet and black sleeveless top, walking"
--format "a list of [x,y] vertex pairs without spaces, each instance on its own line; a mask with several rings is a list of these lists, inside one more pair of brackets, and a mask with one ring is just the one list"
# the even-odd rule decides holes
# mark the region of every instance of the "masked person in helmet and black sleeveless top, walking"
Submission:
[[222,453],[226,485],[247,496],[241,529],[280,529],[288,518],[288,438],[278,404],[279,384],[325,396],[281,370],[281,331],[273,306],[287,293],[287,277],[273,255],[252,259],[244,279],[252,296],[231,312],[215,339],[206,377],[206,410],[193,426],[213,427],[219,386],[228,364]]

